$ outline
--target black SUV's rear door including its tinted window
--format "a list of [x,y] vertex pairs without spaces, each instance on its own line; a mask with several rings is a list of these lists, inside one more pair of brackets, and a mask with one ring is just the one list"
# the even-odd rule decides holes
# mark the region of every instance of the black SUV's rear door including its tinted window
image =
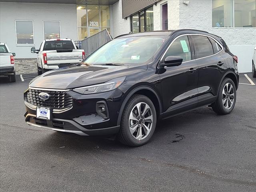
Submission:
[[222,47],[212,37],[191,35],[194,43],[195,58],[198,64],[198,105],[214,102],[218,87],[226,70],[226,64],[219,54]]

